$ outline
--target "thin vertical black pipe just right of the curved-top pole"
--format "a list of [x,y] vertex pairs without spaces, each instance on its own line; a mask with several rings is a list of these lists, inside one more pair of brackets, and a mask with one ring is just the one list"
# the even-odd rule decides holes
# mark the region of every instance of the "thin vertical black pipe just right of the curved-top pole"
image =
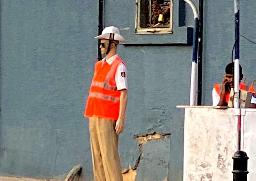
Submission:
[[198,93],[197,105],[202,105],[202,54],[203,54],[203,22],[204,22],[204,0],[199,0],[199,38],[198,44]]

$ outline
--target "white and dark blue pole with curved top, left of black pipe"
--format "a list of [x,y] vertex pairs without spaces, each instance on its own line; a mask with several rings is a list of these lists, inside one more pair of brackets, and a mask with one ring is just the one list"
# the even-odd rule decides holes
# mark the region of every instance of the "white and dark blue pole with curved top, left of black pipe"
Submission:
[[194,31],[193,31],[193,56],[191,66],[191,82],[190,82],[190,105],[196,105],[197,100],[197,53],[198,53],[198,38],[199,38],[199,16],[195,4],[191,0],[184,0],[193,10],[194,14]]

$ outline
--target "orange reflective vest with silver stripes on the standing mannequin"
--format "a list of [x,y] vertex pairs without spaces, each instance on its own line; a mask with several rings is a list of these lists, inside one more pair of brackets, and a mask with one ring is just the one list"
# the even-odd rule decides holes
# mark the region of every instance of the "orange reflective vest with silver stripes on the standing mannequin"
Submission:
[[96,116],[112,120],[118,119],[121,92],[116,88],[115,75],[121,62],[124,64],[118,57],[110,65],[103,61],[96,62],[84,112],[85,117]]

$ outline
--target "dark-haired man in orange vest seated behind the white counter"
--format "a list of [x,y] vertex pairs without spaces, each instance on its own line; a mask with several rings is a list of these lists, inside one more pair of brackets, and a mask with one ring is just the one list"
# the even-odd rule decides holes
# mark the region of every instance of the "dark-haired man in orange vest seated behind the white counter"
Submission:
[[[252,86],[248,87],[245,84],[241,83],[244,75],[242,74],[242,67],[239,65],[239,72],[240,72],[240,90],[247,90],[249,92],[254,93],[255,90]],[[224,105],[228,106],[229,94],[231,88],[234,88],[234,62],[228,64],[226,66],[226,75],[222,84],[216,84],[212,90],[212,105]],[[252,97],[250,107],[254,107],[255,104],[255,97]],[[256,106],[255,106],[256,107]]]

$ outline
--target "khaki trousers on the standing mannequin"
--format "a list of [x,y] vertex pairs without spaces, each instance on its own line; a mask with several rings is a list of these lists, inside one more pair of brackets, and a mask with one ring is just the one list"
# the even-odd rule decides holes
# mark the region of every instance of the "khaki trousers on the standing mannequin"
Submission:
[[116,121],[89,118],[94,181],[123,181]]

